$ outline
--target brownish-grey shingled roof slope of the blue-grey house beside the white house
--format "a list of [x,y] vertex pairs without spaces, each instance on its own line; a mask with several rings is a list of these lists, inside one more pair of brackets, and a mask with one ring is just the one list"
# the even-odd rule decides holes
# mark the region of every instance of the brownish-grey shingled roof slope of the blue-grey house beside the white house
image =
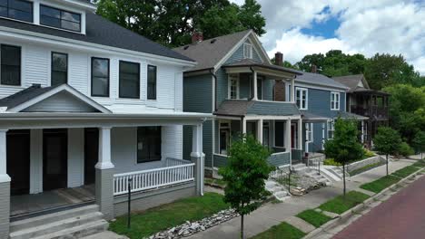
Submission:
[[[217,65],[234,50],[235,46],[241,43],[242,40],[246,39],[250,34],[254,35],[255,33],[253,33],[252,30],[246,30],[203,40],[200,43],[183,45],[173,50],[198,62],[198,65],[191,68],[190,72],[209,70],[217,67]],[[269,60],[267,59],[267,61]]]

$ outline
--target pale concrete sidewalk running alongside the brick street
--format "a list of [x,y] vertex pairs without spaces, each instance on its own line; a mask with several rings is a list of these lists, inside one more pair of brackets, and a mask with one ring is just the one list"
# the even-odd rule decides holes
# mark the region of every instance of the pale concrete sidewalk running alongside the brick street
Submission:
[[[390,162],[390,173],[401,167],[412,164],[411,160],[401,159],[399,161]],[[347,191],[357,190],[363,183],[370,182],[377,178],[383,177],[386,167],[376,167],[368,172],[356,175],[347,180]],[[314,190],[305,196],[292,196],[280,204],[267,204],[254,211],[251,215],[245,216],[245,235],[247,238],[255,234],[260,234],[269,229],[273,225],[279,225],[292,215],[297,215],[305,209],[320,206],[329,199],[339,196],[342,193],[342,182],[335,183],[332,186],[322,187]],[[241,218],[236,217],[221,225],[216,225],[202,233],[193,234],[188,238],[238,238],[241,225]]]

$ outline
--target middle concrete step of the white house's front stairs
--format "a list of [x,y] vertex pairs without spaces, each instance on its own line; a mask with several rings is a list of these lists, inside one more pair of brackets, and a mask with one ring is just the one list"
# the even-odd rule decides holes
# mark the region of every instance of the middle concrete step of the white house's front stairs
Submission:
[[77,215],[74,217],[57,220],[53,223],[45,225],[37,225],[23,230],[18,230],[9,235],[10,239],[29,239],[41,236],[44,234],[53,234],[58,231],[72,229],[80,225],[86,225],[93,222],[98,222],[104,215],[100,212],[94,212],[84,215]]

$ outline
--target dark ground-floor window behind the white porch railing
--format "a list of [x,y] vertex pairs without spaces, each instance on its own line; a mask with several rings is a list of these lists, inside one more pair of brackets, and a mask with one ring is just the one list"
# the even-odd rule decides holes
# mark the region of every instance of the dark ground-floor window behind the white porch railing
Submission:
[[137,163],[161,160],[161,127],[137,128]]

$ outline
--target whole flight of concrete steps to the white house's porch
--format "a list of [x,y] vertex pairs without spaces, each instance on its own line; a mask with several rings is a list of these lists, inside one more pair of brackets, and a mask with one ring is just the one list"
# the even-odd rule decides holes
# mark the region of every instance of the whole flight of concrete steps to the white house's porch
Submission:
[[95,205],[40,215],[11,223],[9,238],[81,238],[105,231],[108,223],[103,216]]

